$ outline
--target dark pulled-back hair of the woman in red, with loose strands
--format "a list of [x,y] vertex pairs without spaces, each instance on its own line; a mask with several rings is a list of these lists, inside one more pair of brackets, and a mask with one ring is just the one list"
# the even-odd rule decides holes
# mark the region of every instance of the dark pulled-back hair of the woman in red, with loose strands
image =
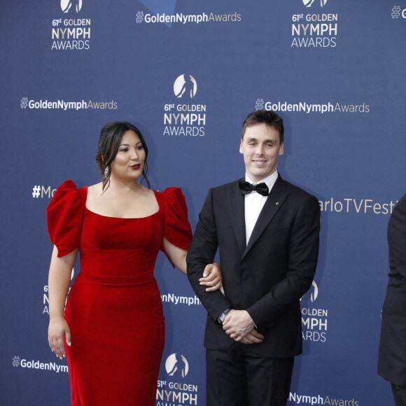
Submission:
[[148,147],[146,146],[141,131],[139,131],[137,127],[135,127],[130,123],[125,123],[123,121],[111,121],[111,123],[107,123],[102,128],[102,132],[100,132],[99,149],[96,155],[97,165],[99,166],[100,170],[102,171],[102,174],[104,175],[103,190],[109,188],[111,176],[110,164],[114,160],[114,158],[116,158],[118,147],[120,146],[123,134],[128,130],[134,131],[135,134],[138,135],[142,147],[144,148],[145,162],[144,162],[144,170],[142,171],[143,179],[141,179],[141,181],[145,179],[146,184],[148,185],[148,189],[151,187],[148,178],[146,177],[146,174],[148,172],[148,164],[146,162],[146,159],[148,158]]

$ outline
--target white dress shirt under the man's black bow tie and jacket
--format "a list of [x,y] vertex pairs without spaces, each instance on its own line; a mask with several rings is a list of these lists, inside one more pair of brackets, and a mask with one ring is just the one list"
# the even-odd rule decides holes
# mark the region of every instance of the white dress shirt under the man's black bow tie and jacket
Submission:
[[[276,179],[278,179],[278,172],[275,171],[272,175],[269,175],[267,178],[262,179],[262,181],[258,183],[265,183],[269,189],[269,193],[271,192]],[[251,181],[248,178],[248,175],[245,174],[245,180],[248,183],[256,185],[257,183]],[[265,202],[267,201],[267,196],[262,196],[258,192],[251,192],[248,195],[244,196],[244,209],[245,209],[245,233],[246,233],[246,244],[248,245],[248,241],[251,237],[253,232],[253,228],[255,227],[255,223],[260,216],[260,212],[262,207],[264,207]]]

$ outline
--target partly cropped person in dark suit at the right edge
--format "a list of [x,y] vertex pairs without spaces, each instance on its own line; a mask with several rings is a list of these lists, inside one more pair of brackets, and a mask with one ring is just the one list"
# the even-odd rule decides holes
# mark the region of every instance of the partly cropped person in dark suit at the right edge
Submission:
[[389,281],[382,309],[378,374],[391,382],[396,406],[406,405],[406,195],[388,224]]

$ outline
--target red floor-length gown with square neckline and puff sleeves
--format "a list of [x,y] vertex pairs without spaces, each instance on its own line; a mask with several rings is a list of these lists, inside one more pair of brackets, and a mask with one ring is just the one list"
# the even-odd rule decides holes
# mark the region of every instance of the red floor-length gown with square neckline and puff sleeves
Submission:
[[62,183],[48,209],[58,256],[75,248],[80,272],[65,309],[72,405],[155,405],[165,323],[153,276],[165,237],[187,250],[192,233],[179,188],[154,192],[159,211],[144,218],[101,216],[85,207],[87,187]]

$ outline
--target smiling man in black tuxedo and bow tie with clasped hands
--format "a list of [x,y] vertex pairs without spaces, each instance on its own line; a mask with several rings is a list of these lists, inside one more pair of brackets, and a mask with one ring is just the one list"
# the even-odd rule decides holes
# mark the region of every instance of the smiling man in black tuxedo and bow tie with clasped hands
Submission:
[[[209,190],[189,248],[188,278],[206,307],[208,406],[286,405],[302,352],[300,297],[316,271],[320,207],[283,181],[283,120],[255,111],[243,123],[245,180]],[[200,276],[217,248],[224,295]]]

